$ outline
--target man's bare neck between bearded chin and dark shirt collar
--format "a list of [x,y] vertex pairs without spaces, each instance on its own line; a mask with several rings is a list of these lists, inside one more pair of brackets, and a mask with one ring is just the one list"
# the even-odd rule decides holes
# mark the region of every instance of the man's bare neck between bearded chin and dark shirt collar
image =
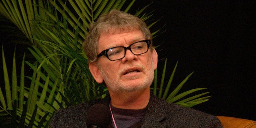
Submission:
[[143,109],[146,108],[150,97],[150,88],[133,92],[114,93],[109,91],[111,104],[122,109]]

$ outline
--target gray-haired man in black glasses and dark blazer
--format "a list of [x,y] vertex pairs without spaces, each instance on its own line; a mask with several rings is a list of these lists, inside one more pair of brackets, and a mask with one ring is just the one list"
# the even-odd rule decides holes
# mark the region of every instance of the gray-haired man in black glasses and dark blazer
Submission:
[[51,127],[86,127],[86,113],[93,104],[109,106],[109,127],[221,127],[214,116],[170,104],[150,94],[157,52],[145,22],[117,10],[91,24],[84,42],[89,69],[109,91],[102,100],[58,110]]

